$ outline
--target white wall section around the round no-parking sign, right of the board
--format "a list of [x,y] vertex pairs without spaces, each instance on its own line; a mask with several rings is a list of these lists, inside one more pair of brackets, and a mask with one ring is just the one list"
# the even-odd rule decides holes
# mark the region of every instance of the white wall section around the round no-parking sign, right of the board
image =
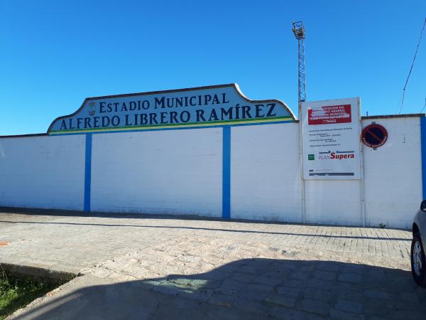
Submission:
[[364,119],[362,127],[372,122],[386,128],[388,141],[363,146],[366,225],[411,228],[422,201],[420,117]]

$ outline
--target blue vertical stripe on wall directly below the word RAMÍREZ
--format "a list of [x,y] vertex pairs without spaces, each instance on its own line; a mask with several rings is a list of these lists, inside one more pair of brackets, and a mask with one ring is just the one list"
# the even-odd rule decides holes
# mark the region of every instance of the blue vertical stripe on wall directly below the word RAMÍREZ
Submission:
[[222,134],[222,218],[231,218],[231,127]]

